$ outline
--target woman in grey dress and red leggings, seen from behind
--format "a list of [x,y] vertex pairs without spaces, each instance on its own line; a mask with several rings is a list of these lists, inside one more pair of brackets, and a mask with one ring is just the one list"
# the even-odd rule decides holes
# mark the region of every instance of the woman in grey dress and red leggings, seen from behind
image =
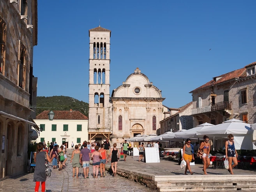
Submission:
[[46,151],[43,151],[44,144],[42,142],[37,144],[37,153],[35,153],[35,172],[34,179],[35,181],[35,192],[38,192],[39,185],[41,181],[42,192],[45,191],[45,181],[46,181],[46,160],[51,162],[53,158],[56,156],[52,155],[50,158]]

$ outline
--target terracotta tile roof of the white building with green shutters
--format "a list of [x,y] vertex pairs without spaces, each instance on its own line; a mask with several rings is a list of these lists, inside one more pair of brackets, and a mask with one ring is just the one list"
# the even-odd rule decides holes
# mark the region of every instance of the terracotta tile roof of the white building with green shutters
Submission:
[[[36,119],[48,119],[50,111],[43,111],[36,116]],[[88,120],[88,117],[79,111],[53,111],[55,113],[54,120]]]

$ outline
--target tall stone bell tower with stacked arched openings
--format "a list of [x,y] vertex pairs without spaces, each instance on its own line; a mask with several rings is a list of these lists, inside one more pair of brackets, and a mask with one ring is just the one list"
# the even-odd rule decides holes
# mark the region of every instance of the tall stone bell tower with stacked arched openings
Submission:
[[109,103],[111,31],[101,26],[89,30],[89,141],[109,139],[111,108]]

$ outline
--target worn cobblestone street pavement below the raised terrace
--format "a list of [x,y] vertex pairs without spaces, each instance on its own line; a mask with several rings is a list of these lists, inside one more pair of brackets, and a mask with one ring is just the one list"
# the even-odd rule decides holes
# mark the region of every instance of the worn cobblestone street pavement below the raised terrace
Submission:
[[[69,158],[68,158],[69,159]],[[110,166],[110,164],[107,164]],[[52,169],[52,168],[51,168]],[[34,192],[35,182],[33,182],[33,174],[25,174],[15,178],[10,178],[0,182],[0,192]],[[41,191],[41,186],[39,192]],[[72,177],[72,165],[67,164],[67,167],[62,171],[53,169],[51,177],[46,180],[46,192],[154,192],[139,183],[130,181],[120,176],[111,176],[106,174],[106,177],[93,178],[92,166],[89,170],[89,178],[83,179],[83,169],[79,168],[78,178]]]

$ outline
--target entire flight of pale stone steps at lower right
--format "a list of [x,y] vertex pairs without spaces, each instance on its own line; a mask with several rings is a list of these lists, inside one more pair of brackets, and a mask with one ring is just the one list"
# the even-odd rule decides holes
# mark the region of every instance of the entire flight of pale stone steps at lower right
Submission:
[[256,190],[254,175],[175,175],[152,179],[160,192]]

